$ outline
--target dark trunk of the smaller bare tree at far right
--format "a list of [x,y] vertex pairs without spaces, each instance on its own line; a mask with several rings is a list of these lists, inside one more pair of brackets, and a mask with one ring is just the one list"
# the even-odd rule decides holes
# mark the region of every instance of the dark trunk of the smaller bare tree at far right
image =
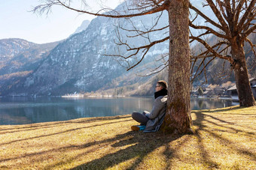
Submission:
[[[236,37],[239,38],[239,37]],[[233,40],[231,53],[236,60],[234,64],[234,73],[236,78],[236,91],[239,97],[240,106],[255,106],[255,100],[251,91],[251,85],[248,79],[248,70],[245,62],[245,53],[239,40]]]

